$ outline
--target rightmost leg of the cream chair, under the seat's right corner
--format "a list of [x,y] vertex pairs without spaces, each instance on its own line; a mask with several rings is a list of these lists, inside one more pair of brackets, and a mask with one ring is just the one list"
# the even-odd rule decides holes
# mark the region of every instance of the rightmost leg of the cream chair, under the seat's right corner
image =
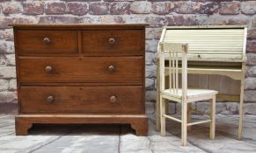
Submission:
[[211,122],[210,122],[209,138],[213,140],[215,139],[215,134],[216,134],[216,96],[214,96],[211,101],[210,119],[211,119]]

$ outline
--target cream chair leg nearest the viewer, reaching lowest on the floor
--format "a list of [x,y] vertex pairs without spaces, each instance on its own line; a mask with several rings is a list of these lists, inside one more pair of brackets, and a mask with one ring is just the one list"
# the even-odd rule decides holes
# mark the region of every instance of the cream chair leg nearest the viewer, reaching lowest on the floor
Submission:
[[187,101],[181,103],[181,143],[187,145]]

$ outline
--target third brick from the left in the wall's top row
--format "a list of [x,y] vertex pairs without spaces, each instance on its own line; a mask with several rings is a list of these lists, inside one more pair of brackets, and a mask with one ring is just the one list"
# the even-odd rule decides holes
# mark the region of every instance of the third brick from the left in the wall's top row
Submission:
[[47,3],[47,7],[45,9],[46,14],[64,14],[66,10],[65,3]]

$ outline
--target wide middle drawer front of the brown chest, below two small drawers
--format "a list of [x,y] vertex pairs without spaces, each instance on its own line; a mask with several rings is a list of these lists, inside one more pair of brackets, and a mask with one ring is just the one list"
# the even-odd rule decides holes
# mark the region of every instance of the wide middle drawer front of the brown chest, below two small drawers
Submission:
[[20,82],[130,82],[143,85],[143,57],[18,58]]

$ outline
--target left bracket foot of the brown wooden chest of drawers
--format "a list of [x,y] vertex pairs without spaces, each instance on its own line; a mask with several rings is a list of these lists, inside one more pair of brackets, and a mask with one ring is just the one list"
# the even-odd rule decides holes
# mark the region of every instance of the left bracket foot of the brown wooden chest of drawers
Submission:
[[32,128],[32,122],[24,122],[15,119],[15,131],[16,136],[26,136],[28,133],[28,129]]

